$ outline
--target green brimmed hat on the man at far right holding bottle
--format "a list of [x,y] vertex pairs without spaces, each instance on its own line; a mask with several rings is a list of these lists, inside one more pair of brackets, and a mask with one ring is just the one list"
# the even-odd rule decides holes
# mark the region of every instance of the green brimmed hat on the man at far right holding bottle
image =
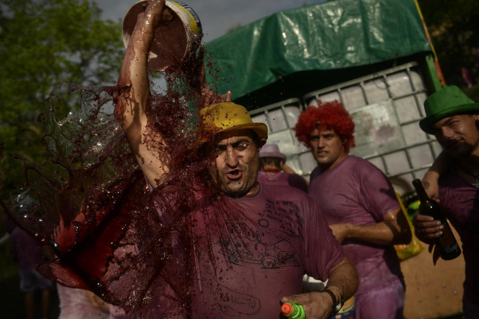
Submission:
[[479,111],[479,103],[474,103],[455,85],[446,86],[432,94],[424,101],[426,117],[419,121],[421,130],[433,134],[434,123],[455,114]]

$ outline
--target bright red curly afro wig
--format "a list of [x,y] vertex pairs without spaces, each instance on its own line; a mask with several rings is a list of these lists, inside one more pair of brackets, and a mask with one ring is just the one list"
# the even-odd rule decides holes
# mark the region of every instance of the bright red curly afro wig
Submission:
[[355,146],[353,119],[337,101],[326,103],[318,101],[318,107],[308,106],[301,112],[298,123],[294,127],[298,141],[309,148],[309,134],[314,129],[333,130],[341,140],[345,141],[344,148],[347,153]]

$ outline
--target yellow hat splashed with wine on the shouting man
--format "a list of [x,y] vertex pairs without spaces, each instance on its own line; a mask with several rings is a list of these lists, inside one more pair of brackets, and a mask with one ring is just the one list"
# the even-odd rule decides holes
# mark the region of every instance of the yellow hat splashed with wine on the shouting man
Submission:
[[246,109],[232,102],[218,103],[200,110],[200,143],[208,138],[226,131],[250,129],[260,139],[268,138],[268,128],[263,123],[253,123]]

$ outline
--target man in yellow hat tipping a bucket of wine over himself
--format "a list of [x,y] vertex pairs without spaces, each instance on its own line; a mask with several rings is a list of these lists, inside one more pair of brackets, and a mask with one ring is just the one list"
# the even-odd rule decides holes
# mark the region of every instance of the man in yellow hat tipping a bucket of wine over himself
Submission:
[[[280,318],[280,302],[293,301],[303,305],[308,318],[336,313],[357,288],[356,270],[311,198],[289,186],[256,181],[258,152],[267,139],[264,124],[253,123],[231,97],[203,108],[196,150],[205,158],[187,165],[173,158],[179,146],[168,145],[163,133],[149,132],[147,52],[164,3],[152,1],[138,18],[115,108],[153,194],[158,194],[160,218],[167,224],[168,218],[184,216],[166,240],[173,243],[172,256],[179,256],[172,267],[185,261],[191,271],[180,281],[172,280],[174,275],[162,277],[163,285],[149,298],[159,298],[165,307],[159,309],[155,302],[151,313],[155,318]],[[191,171],[204,162],[201,181],[176,171]],[[172,176],[182,176],[179,182],[187,184],[192,195],[183,190],[167,193],[180,179]],[[192,199],[190,207],[182,206],[192,208],[186,216],[175,210],[184,197]],[[300,294],[304,273],[328,279],[327,289]],[[190,283],[184,294],[176,288],[182,281]]]

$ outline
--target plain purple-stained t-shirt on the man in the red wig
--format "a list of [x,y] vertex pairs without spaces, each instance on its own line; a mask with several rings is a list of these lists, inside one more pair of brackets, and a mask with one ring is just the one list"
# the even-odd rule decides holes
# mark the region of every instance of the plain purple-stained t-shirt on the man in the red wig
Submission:
[[[321,207],[329,225],[352,223],[374,225],[384,215],[400,208],[388,178],[376,166],[348,156],[336,167],[311,173],[309,195]],[[344,252],[358,271],[356,294],[402,281],[399,260],[393,245],[345,240]]]

